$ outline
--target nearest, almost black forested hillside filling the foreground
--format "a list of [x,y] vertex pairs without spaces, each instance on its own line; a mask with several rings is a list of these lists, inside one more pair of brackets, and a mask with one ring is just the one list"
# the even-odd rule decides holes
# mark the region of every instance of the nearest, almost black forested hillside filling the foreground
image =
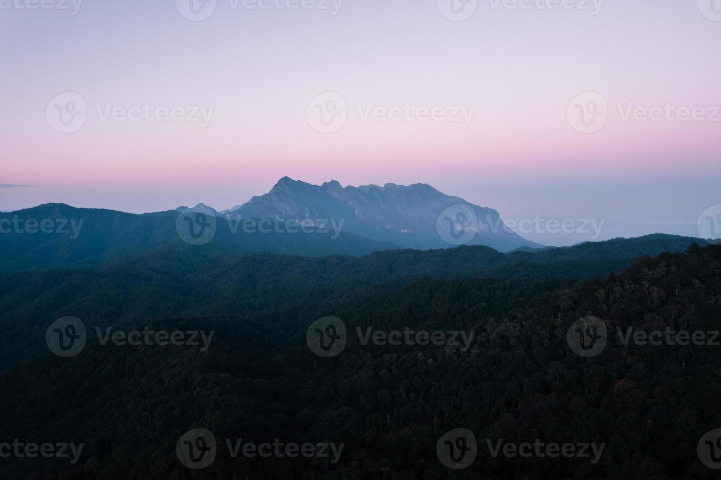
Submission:
[[[97,299],[102,293],[112,296],[112,284],[98,279]],[[45,281],[41,277],[35,287]],[[68,283],[66,290],[36,304],[71,291]],[[48,462],[42,470],[32,459],[6,459],[0,477],[717,478],[699,461],[696,445],[704,433],[721,427],[720,347],[624,345],[616,329],[721,329],[721,246],[642,257],[627,270],[576,286],[421,280],[335,301],[322,314],[345,322],[349,335],[345,350],[332,358],[306,346],[312,317],[278,316],[276,323],[265,324],[243,314],[177,319],[157,311],[155,319],[127,327],[215,329],[212,347],[203,352],[91,342],[76,357],[48,352],[16,365],[0,378],[0,391],[10,393],[0,399],[6,436],[42,443],[60,435],[86,445],[78,463]],[[598,355],[580,357],[566,335],[589,315],[601,319],[609,334]],[[476,339],[466,350],[462,345],[363,345],[355,328],[368,326],[463,330],[475,332]],[[174,449],[181,435],[201,427],[221,446],[199,475],[178,461]],[[477,438],[477,458],[459,471],[443,466],[436,455],[438,440],[455,428]],[[337,463],[231,458],[224,448],[227,438],[335,442],[344,448]],[[592,463],[562,456],[494,458],[486,446],[486,440],[535,439],[604,448]]]

